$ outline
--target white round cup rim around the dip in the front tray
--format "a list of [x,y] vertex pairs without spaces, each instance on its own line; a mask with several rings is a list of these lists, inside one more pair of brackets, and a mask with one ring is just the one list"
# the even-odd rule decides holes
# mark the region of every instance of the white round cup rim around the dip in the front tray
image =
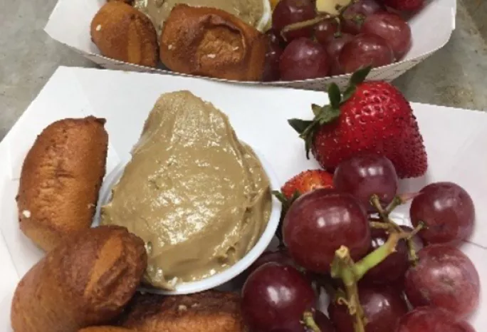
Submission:
[[[272,170],[271,164],[255,149],[253,151],[256,153],[258,159],[261,161],[263,169],[266,172],[266,175],[271,183],[271,190],[280,190],[280,185],[277,180],[277,177]],[[100,209],[103,205],[110,202],[112,198],[112,187],[120,180],[122,177],[123,170],[125,169],[125,165],[129,160],[125,162],[120,162],[117,167],[115,167],[110,174],[105,177],[103,181],[103,185],[100,190],[100,198],[98,199],[98,207],[95,214],[95,219],[93,222],[93,227],[96,227],[100,224]],[[149,293],[156,293],[156,294],[171,294],[171,295],[181,295],[181,294],[192,294],[197,293],[199,291],[206,291],[207,289],[213,289],[217,286],[221,286],[226,282],[234,279],[236,276],[244,272],[248,266],[250,266],[259,256],[263,253],[264,250],[268,247],[271,243],[274,234],[276,233],[276,229],[279,224],[279,219],[281,217],[281,202],[276,199],[272,195],[272,209],[271,209],[271,217],[269,217],[269,221],[267,223],[266,229],[261,235],[261,238],[258,239],[258,242],[253,246],[251,251],[242,258],[241,260],[237,261],[236,264],[230,266],[228,269],[221,271],[219,274],[215,274],[214,276],[209,276],[208,278],[202,279],[200,281],[192,281],[192,282],[185,282],[178,284],[174,291],[168,291],[164,289],[153,289],[153,288],[143,288],[140,291],[147,291]]]

